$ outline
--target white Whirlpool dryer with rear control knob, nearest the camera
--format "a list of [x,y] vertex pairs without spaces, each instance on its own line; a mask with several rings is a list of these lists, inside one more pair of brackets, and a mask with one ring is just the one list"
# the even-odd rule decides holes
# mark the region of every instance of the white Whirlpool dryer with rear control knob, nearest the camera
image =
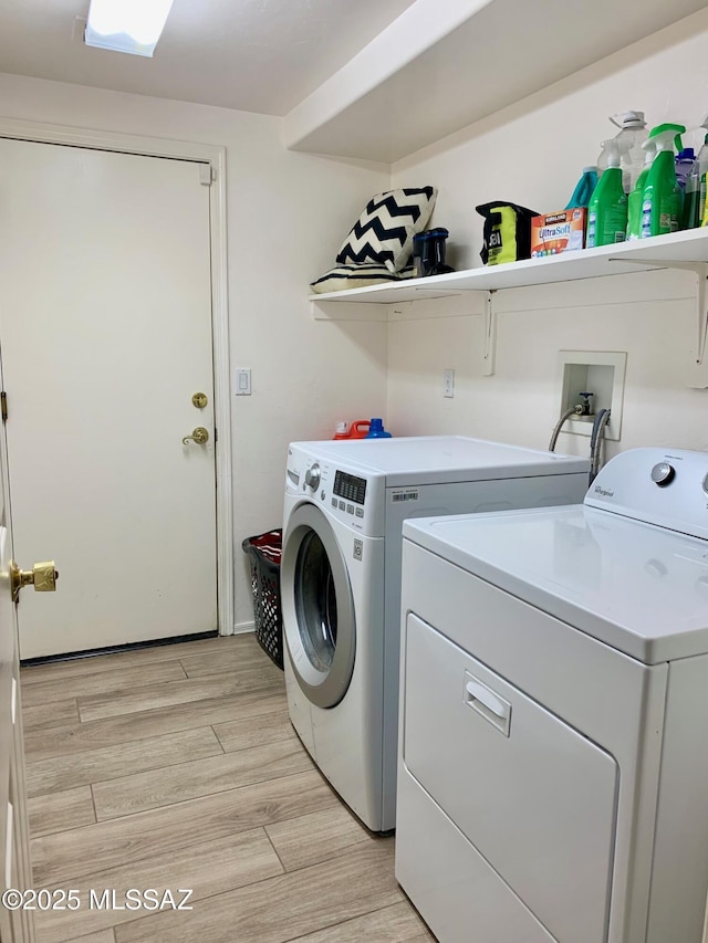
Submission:
[[441,943],[700,943],[708,453],[408,521],[397,878]]

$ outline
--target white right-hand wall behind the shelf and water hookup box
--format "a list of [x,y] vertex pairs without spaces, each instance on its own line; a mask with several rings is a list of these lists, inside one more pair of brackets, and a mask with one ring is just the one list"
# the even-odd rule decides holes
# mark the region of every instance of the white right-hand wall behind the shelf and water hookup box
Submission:
[[[530,54],[542,54],[530,51]],[[542,93],[438,142],[393,168],[394,186],[434,184],[431,224],[450,231],[448,261],[480,265],[479,203],[561,209],[600,142],[616,133],[607,116],[646,113],[696,128],[708,112],[708,10],[585,69]],[[490,80],[491,81],[491,80]],[[483,94],[483,90],[480,90]],[[685,136],[698,146],[699,134]],[[622,440],[708,449],[708,392],[689,386],[696,349],[694,276],[658,272],[575,285],[513,290],[493,303],[497,370],[482,375],[482,298],[416,302],[414,317],[389,324],[389,427],[398,434],[457,431],[546,448],[560,412],[560,349],[625,350]],[[476,314],[472,314],[476,312]],[[442,370],[456,370],[455,399]],[[705,371],[708,384],[708,371]],[[558,449],[585,454],[587,439],[562,434]]]

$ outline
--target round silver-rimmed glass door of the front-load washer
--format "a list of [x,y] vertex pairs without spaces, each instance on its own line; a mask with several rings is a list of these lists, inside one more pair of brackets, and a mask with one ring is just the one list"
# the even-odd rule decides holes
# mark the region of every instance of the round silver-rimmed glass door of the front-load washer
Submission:
[[296,507],[280,568],[283,630],[298,683],[311,703],[333,708],[352,679],[356,624],[346,564],[314,504]]

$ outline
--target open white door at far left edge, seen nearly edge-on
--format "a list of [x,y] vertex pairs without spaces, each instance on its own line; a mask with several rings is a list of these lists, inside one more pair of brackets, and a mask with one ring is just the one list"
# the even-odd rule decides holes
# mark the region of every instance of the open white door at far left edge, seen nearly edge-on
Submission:
[[[0,867],[2,889],[32,884],[27,821],[24,754],[20,711],[20,660],[17,608],[12,601],[10,564],[12,527],[8,501],[8,461],[0,429]],[[31,590],[25,589],[25,595]],[[32,913],[0,907],[0,943],[34,939]]]

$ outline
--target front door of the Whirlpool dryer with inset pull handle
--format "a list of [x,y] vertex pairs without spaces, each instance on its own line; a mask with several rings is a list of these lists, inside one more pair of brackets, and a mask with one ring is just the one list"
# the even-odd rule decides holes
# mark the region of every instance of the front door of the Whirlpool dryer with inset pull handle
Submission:
[[[480,855],[553,940],[604,943],[614,757],[413,612],[404,671],[405,767],[470,858]],[[466,905],[473,922],[471,892]]]

